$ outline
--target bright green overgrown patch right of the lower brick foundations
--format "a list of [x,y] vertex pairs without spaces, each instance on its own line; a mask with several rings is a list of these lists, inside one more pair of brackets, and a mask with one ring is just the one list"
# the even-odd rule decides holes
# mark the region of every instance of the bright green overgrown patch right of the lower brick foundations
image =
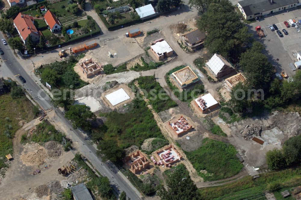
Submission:
[[[232,177],[243,168],[243,164],[235,155],[235,147],[225,142],[206,138],[200,148],[185,153],[198,175],[205,181]],[[206,170],[207,173],[200,170]]]

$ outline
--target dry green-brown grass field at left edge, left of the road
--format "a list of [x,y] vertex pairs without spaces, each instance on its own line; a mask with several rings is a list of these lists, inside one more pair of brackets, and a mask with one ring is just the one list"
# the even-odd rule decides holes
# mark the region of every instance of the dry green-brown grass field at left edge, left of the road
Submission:
[[[10,94],[0,96],[0,170],[5,167],[5,155],[13,153],[12,138],[16,131],[20,128],[20,120],[27,122],[34,119],[33,104],[22,96],[17,99],[11,98]],[[5,133],[9,130],[10,137]]]

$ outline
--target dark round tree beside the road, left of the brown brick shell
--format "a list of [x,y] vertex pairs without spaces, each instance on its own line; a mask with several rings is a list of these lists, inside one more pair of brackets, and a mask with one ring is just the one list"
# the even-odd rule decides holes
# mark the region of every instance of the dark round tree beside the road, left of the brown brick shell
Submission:
[[110,160],[113,163],[117,163],[124,156],[124,150],[113,139],[101,140],[97,148],[100,150],[97,151],[97,155],[105,161]]

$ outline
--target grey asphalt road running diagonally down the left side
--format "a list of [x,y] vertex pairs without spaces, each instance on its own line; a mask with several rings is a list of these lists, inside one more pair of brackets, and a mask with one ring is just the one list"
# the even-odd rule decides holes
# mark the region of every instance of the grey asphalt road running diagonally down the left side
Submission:
[[[0,39],[5,38],[0,32]],[[1,42],[0,48],[2,48],[4,55],[1,55],[3,62],[7,65],[9,70],[14,74],[14,79],[19,82],[27,90],[29,95],[35,99],[35,101],[42,108],[54,107],[51,104],[51,99],[47,94],[36,84],[33,78],[26,73],[23,67],[20,65],[19,61],[14,55],[14,51],[9,47],[9,45],[3,45]],[[22,76],[26,83],[22,83],[18,76]],[[0,74],[1,76],[1,74]],[[72,124],[67,120],[61,111],[56,111],[57,116],[60,118],[61,122],[64,123],[68,128],[72,128]],[[131,199],[141,199],[141,195],[134,186],[127,180],[127,178],[117,169],[110,170],[108,164],[103,163],[101,158],[96,156],[96,149],[85,140],[85,136],[79,130],[73,130],[74,134],[70,135],[73,141],[79,141],[80,147],[77,149],[82,155],[88,154],[87,158],[91,161],[93,166],[102,173],[101,175],[107,176],[111,180],[111,185],[113,189],[120,195],[120,192],[125,191],[127,196]],[[91,151],[91,152],[90,152]],[[114,167],[114,166],[113,166]],[[118,191],[119,189],[119,191]]]

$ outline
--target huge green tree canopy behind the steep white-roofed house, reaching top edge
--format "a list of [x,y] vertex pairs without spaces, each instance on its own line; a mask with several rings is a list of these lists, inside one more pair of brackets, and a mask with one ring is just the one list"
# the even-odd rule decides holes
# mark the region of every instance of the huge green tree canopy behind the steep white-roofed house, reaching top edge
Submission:
[[228,0],[211,2],[197,24],[200,30],[207,32],[204,45],[209,52],[221,54],[231,61],[236,62],[252,40],[252,34]]

